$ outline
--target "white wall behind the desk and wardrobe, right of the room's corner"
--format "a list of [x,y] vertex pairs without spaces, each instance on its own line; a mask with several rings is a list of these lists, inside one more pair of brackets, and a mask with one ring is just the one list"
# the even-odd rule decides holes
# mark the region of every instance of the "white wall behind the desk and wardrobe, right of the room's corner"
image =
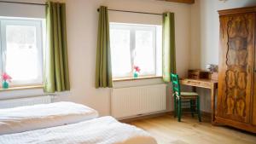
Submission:
[[[205,69],[207,64],[218,65],[218,10],[255,6],[255,0],[195,0],[191,7],[190,68]],[[201,109],[211,112],[210,91],[199,89]]]

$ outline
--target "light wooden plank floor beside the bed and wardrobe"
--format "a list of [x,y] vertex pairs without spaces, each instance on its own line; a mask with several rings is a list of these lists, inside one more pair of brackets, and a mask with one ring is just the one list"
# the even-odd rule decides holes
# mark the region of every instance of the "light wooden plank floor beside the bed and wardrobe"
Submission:
[[183,116],[177,122],[173,116],[165,115],[130,122],[148,131],[158,144],[256,144],[256,135],[229,127],[212,126],[209,118]]

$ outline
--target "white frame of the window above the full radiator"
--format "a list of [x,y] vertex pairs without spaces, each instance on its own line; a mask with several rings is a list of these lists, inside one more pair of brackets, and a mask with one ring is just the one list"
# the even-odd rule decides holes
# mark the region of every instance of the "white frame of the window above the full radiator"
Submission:
[[[116,23],[110,22],[110,31],[111,29],[120,29],[120,30],[129,30],[130,31],[130,52],[131,52],[131,66],[134,66],[134,51],[136,49],[136,31],[151,31],[153,32],[153,49],[154,49],[154,72],[147,72],[143,74],[139,74],[141,77],[154,77],[160,76],[161,71],[157,70],[159,68],[158,63],[161,65],[161,61],[158,62],[157,58],[159,57],[159,53],[161,53],[161,45],[157,45],[157,41],[159,40],[157,30],[159,27],[154,25],[142,25],[142,24],[125,24],[125,23]],[[160,31],[161,32],[161,31]],[[111,37],[110,37],[111,38]],[[161,39],[161,37],[160,37]],[[159,48],[160,47],[160,48]],[[157,49],[160,49],[158,51]],[[161,54],[160,54],[161,55]],[[133,67],[131,67],[131,72],[125,73],[124,75],[113,76],[114,79],[118,78],[132,78],[133,77]]]

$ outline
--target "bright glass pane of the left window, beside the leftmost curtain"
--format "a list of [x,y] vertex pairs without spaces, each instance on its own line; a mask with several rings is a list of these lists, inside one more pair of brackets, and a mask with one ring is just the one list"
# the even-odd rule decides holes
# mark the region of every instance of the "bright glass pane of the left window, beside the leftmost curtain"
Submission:
[[35,26],[6,26],[6,72],[14,81],[38,78],[38,48]]

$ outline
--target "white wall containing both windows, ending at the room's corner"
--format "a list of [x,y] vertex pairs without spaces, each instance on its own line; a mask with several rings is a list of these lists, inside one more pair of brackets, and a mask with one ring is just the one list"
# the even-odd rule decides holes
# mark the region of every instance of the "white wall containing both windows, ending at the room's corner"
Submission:
[[[24,0],[19,0],[24,2]],[[26,0],[31,3],[41,3],[42,0]],[[166,3],[155,0],[66,0],[67,2],[67,44],[71,91],[60,93],[58,101],[75,101],[93,107],[101,115],[110,113],[110,89],[95,89],[95,65],[96,65],[96,34],[98,13],[96,9],[100,5],[108,6],[109,9],[122,9],[131,11],[143,11],[151,13],[163,13],[171,11],[175,13],[176,25],[176,48],[177,48],[177,72],[185,76],[189,68],[189,44],[190,44],[190,5],[183,3]],[[13,11],[25,11],[28,14],[35,10],[20,8],[14,10],[14,4],[4,5],[5,13]],[[25,7],[25,6],[23,6]],[[41,9],[41,8],[40,8]],[[0,9],[1,10],[1,9]],[[10,11],[9,11],[10,10]],[[39,9],[38,9],[39,10]],[[0,14],[1,11],[0,11]],[[118,19],[119,14],[114,14]],[[111,15],[110,15],[111,16]],[[124,15],[127,20],[133,16]],[[137,14],[139,16],[139,14]],[[143,16],[140,16],[143,19]],[[121,19],[121,17],[120,17]],[[123,19],[123,18],[122,18]],[[137,19],[137,18],[136,18]],[[139,20],[139,19],[137,19]],[[142,80],[139,82],[115,83],[116,87],[161,84],[160,79]],[[42,89],[19,90],[13,92],[1,92],[1,98],[41,95]],[[168,105],[169,107],[171,105]]]

